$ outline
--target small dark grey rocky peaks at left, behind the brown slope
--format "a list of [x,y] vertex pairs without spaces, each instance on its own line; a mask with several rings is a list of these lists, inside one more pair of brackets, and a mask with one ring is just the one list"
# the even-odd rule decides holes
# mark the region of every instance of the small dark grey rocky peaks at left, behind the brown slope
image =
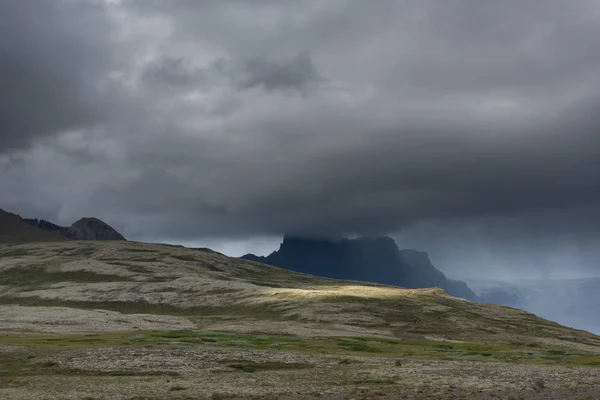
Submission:
[[98,218],[82,218],[70,227],[59,226],[43,219],[23,219],[29,225],[70,240],[126,240],[123,235]]

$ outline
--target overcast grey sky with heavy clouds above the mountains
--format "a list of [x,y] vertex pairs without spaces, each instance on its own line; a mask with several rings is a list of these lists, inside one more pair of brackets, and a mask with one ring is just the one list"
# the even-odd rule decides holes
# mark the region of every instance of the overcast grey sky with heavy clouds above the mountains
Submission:
[[593,0],[0,0],[0,207],[600,276]]

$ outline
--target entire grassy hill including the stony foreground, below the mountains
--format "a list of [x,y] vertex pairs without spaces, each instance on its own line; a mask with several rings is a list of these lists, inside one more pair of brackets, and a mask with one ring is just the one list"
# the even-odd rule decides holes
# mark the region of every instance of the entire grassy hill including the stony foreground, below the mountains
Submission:
[[168,245],[0,246],[2,398],[565,398],[600,393],[595,365],[598,336],[440,289]]

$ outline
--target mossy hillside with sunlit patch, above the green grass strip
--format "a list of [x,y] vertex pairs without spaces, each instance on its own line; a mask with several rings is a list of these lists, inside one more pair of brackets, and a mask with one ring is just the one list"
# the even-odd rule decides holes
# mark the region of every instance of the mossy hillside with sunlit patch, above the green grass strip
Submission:
[[[0,246],[0,304],[0,313],[18,304],[180,315],[212,331],[600,345],[587,332],[441,289],[318,278],[207,249],[133,242]],[[87,323],[69,329],[86,331]],[[32,326],[45,329],[39,320]],[[46,328],[62,329],[56,318]]]

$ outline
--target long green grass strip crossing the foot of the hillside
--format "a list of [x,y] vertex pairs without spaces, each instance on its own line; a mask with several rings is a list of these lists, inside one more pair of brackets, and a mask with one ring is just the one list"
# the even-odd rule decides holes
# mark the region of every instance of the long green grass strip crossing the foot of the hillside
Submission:
[[[69,348],[108,346],[217,346],[240,349],[269,349],[305,354],[339,355],[340,365],[355,362],[351,356],[371,355],[392,359],[443,359],[460,361],[487,361],[537,364],[573,364],[600,366],[600,356],[585,352],[564,352],[560,349],[453,343],[436,341],[402,341],[381,338],[299,337],[264,334],[241,334],[206,331],[147,331],[114,332],[97,335],[41,335],[0,336],[0,344],[24,346],[27,352],[7,362],[11,368],[23,363],[34,363],[32,354],[61,351]],[[560,353],[560,354],[557,354]],[[0,360],[1,361],[1,360]],[[402,364],[401,361],[400,365]],[[15,364],[16,363],[16,364]],[[1,362],[0,362],[1,364]],[[264,370],[269,366],[245,365],[246,369]],[[37,364],[39,366],[39,363]],[[284,366],[279,366],[284,368]],[[235,368],[235,367],[232,367]],[[244,370],[241,368],[241,370]],[[273,366],[275,368],[275,366]],[[0,370],[5,368],[0,365]],[[9,368],[10,369],[10,368]]]

